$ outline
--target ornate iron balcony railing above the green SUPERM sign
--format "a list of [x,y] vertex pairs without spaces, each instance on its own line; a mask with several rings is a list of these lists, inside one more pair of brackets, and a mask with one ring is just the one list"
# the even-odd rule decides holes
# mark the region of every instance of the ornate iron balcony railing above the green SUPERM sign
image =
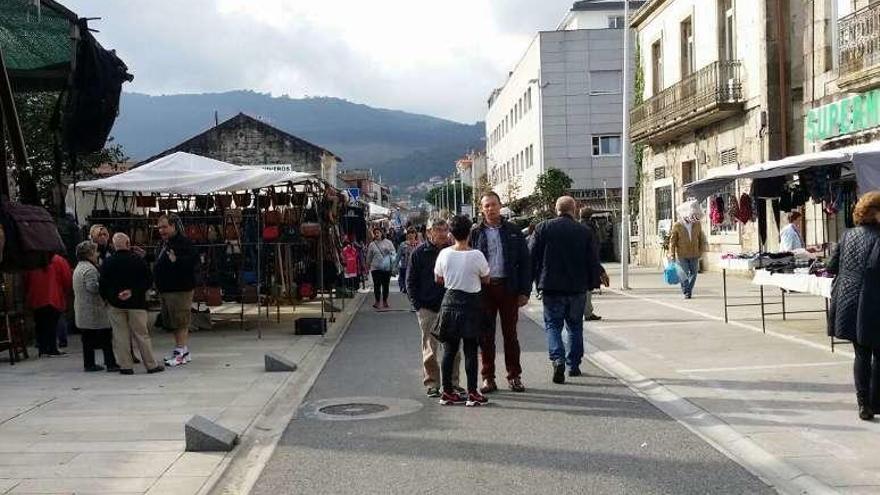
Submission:
[[880,4],[841,18],[838,28],[840,77],[851,78],[880,65]]

